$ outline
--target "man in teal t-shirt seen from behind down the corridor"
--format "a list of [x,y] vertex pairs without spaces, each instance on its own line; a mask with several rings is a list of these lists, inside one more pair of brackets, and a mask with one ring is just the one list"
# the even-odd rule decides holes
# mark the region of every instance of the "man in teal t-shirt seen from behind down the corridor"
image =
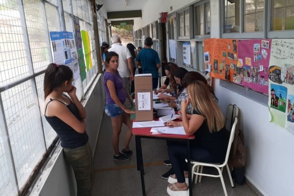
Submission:
[[156,89],[158,85],[158,69],[160,68],[160,60],[157,51],[151,49],[152,39],[147,37],[144,42],[144,49],[141,49],[137,55],[137,66],[143,68],[143,73],[152,74],[152,88]]

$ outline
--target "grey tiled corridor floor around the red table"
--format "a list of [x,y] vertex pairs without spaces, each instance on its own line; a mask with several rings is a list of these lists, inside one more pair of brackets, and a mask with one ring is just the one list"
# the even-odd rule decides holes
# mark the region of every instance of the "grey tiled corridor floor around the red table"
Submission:
[[[110,118],[104,114],[102,122],[94,158],[93,196],[142,196],[140,172],[137,171],[136,166],[135,138],[132,138],[130,145],[134,152],[132,159],[114,161],[112,159]],[[125,127],[123,126],[120,149],[123,148],[124,131]],[[164,140],[142,139],[142,151],[147,196],[168,196],[166,191],[168,181],[161,178],[161,175],[170,169],[169,166],[163,164],[163,160],[168,159],[166,142]],[[232,189],[225,170],[223,176],[229,196],[256,196],[246,184],[235,185],[235,188]],[[201,183],[193,184],[193,193],[195,196],[224,195],[220,178],[205,176]]]

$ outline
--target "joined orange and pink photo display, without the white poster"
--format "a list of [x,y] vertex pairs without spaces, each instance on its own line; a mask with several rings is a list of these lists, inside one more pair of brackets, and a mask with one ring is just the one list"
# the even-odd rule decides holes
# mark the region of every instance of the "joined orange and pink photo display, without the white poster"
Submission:
[[268,94],[270,47],[270,39],[205,39],[205,73]]

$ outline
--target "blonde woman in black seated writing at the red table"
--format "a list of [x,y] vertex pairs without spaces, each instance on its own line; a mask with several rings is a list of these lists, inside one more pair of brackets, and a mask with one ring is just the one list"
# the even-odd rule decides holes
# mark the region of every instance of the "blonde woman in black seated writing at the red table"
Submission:
[[[209,87],[202,81],[195,81],[187,87],[188,100],[181,102],[182,122],[169,122],[170,127],[183,126],[187,135],[195,135],[190,142],[191,159],[207,163],[224,161],[229,134],[224,126],[220,107],[212,98]],[[186,108],[193,106],[191,120],[188,121]],[[167,192],[170,196],[187,196],[187,149],[185,144],[172,144],[168,147],[172,169],[175,174],[169,177]],[[185,176],[186,175],[186,176]]]

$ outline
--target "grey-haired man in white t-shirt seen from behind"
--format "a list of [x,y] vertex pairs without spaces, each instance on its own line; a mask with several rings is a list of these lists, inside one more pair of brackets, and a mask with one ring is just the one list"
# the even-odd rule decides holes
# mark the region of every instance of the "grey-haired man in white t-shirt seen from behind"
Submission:
[[108,51],[114,51],[119,54],[119,68],[118,71],[123,78],[123,84],[127,92],[130,92],[130,81],[134,80],[132,55],[130,51],[122,46],[121,38],[118,35],[111,37],[111,48]]

